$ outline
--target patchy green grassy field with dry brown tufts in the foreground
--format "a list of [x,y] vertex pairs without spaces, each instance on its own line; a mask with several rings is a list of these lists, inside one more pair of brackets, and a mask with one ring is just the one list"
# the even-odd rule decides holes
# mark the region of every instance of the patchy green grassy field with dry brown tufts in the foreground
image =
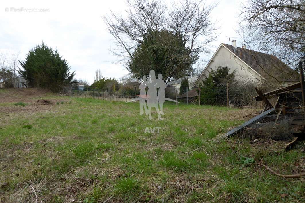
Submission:
[[217,138],[255,110],[165,104],[164,112],[149,121],[138,103],[0,90],[0,201],[305,201],[304,178],[243,158],[300,173],[304,150]]

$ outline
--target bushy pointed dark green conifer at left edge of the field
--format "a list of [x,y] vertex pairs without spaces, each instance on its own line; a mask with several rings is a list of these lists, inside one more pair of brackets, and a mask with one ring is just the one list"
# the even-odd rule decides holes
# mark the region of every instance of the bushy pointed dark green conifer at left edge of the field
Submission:
[[53,92],[60,91],[64,86],[73,85],[74,72],[70,73],[70,67],[66,59],[63,59],[57,50],[53,51],[43,42],[29,51],[25,60],[19,61],[23,69],[18,72],[31,87],[50,89]]

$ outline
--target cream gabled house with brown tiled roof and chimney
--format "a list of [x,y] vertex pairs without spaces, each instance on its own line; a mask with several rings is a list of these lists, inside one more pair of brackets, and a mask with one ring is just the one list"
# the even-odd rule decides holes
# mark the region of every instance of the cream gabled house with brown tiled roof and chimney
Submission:
[[203,72],[193,85],[209,76],[213,68],[229,68],[236,71],[236,79],[257,84],[287,86],[299,81],[296,71],[271,54],[247,49],[245,45],[237,47],[236,40],[232,45],[221,43]]

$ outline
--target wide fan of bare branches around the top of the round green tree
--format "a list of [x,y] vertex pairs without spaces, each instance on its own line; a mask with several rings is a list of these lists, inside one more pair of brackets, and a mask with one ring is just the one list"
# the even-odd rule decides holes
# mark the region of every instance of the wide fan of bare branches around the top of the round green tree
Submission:
[[126,17],[112,11],[104,17],[117,45],[110,51],[120,57],[118,62],[126,64],[145,34],[152,30],[169,30],[183,37],[192,54],[207,53],[206,45],[217,37],[210,16],[215,6],[207,5],[205,0],[182,0],[170,9],[158,0],[127,0]]

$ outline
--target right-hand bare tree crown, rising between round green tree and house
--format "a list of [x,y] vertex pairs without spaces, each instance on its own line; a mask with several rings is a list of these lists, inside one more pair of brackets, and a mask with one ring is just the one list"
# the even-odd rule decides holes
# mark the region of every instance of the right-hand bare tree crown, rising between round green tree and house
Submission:
[[209,53],[207,45],[217,38],[217,28],[211,20],[211,12],[216,6],[217,3],[206,5],[204,0],[174,3],[169,12],[168,26],[183,37],[193,52]]

